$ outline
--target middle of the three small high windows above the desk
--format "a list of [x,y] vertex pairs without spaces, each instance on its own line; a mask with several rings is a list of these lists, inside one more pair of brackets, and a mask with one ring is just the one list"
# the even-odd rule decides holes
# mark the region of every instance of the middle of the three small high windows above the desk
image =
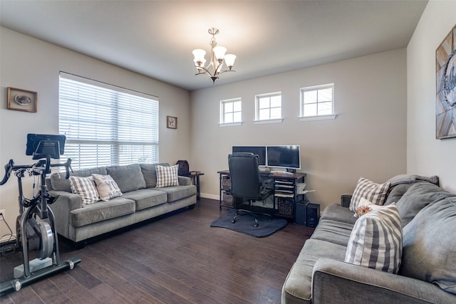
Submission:
[[281,92],[255,96],[255,120],[279,120],[282,117]]

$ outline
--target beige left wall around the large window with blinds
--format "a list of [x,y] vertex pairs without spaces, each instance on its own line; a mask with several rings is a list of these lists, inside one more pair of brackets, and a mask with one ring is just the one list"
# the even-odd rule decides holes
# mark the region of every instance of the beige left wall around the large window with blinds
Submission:
[[[123,88],[158,96],[160,100],[160,162],[175,164],[190,159],[190,95],[187,90],[152,80],[115,65],[68,51],[50,43],[0,28],[0,175],[4,164],[32,164],[25,155],[27,133],[58,134],[58,74],[60,70]],[[38,112],[6,109],[8,87],[38,92]],[[166,115],[178,117],[178,129],[166,128]],[[1,178],[0,177],[0,178]],[[6,221],[15,226],[19,214],[16,177],[0,187],[0,209]],[[31,178],[24,183],[31,194]],[[0,222],[0,236],[6,227]]]

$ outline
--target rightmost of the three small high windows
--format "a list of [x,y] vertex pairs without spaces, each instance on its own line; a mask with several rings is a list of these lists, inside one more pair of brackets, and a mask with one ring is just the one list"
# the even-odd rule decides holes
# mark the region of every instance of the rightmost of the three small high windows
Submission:
[[333,117],[334,84],[301,88],[301,117]]

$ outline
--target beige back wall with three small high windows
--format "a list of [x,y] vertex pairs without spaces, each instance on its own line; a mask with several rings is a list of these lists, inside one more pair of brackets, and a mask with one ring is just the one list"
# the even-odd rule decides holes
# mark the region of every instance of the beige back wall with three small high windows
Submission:
[[[223,75],[222,75],[223,77]],[[209,81],[209,79],[208,79]],[[299,122],[299,88],[335,83],[336,120]],[[254,125],[254,96],[281,91],[284,122]],[[219,127],[219,100],[242,98],[242,126]],[[301,145],[309,199],[328,204],[358,178],[385,182],[406,169],[406,51],[294,70],[190,93],[192,159],[202,196],[218,198],[217,171],[233,145]]]

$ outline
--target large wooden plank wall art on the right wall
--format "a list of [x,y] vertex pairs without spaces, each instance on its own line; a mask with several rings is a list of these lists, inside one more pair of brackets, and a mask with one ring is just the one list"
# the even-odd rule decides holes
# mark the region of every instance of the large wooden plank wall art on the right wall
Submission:
[[435,137],[456,137],[456,25],[435,51]]

